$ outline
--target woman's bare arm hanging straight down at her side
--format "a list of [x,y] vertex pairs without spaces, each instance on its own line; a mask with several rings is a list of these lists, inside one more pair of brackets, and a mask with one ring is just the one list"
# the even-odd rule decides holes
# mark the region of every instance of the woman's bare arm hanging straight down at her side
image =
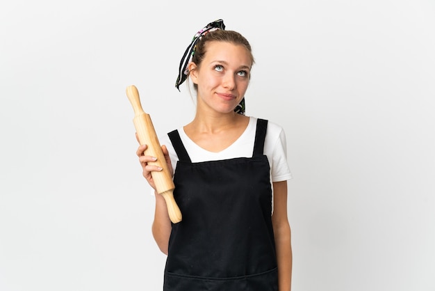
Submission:
[[279,291],[291,290],[293,255],[290,223],[287,217],[287,181],[274,182],[272,224],[277,249]]

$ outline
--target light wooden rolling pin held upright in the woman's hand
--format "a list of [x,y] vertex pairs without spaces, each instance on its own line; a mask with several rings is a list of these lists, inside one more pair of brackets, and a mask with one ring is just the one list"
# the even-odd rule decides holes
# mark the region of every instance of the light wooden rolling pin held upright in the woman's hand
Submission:
[[154,129],[153,123],[149,114],[145,113],[140,104],[140,97],[138,93],[138,88],[131,85],[126,88],[127,97],[129,97],[130,103],[133,106],[133,111],[135,116],[133,118],[133,124],[136,128],[136,133],[138,134],[139,143],[141,145],[147,145],[147,150],[145,150],[145,155],[156,157],[156,162],[149,162],[150,165],[156,165],[163,168],[162,171],[153,171],[151,176],[156,185],[156,191],[165,198],[167,212],[172,223],[178,223],[181,221],[181,212],[174,200],[174,182],[172,181],[171,174],[167,169],[167,164],[165,156],[160,143],[158,142],[156,130]]

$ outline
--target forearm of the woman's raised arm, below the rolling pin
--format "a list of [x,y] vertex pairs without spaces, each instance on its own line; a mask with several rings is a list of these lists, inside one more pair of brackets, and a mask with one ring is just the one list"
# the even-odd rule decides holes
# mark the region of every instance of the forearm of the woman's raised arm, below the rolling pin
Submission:
[[156,210],[154,212],[152,233],[158,248],[166,255],[171,229],[172,225],[169,214],[167,214],[165,199],[160,194],[156,194]]

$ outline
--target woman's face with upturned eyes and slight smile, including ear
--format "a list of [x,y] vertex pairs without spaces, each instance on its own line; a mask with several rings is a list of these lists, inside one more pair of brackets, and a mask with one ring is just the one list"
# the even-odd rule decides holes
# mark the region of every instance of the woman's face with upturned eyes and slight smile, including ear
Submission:
[[198,109],[229,113],[245,96],[252,59],[245,47],[230,42],[208,42],[199,68],[190,63],[197,84]]

